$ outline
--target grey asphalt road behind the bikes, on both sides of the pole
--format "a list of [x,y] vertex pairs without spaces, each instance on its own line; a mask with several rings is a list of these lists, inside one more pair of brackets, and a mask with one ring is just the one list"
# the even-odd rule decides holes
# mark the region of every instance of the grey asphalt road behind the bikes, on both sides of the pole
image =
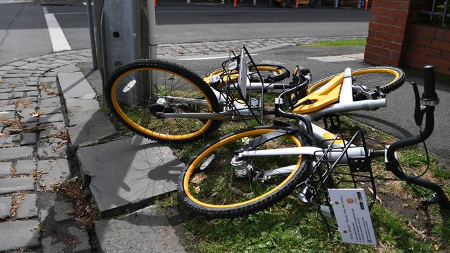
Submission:
[[[55,15],[72,49],[90,47],[86,6],[0,4],[0,66],[52,52],[44,7]],[[160,44],[367,35],[368,19],[363,10],[157,6],[156,34]]]

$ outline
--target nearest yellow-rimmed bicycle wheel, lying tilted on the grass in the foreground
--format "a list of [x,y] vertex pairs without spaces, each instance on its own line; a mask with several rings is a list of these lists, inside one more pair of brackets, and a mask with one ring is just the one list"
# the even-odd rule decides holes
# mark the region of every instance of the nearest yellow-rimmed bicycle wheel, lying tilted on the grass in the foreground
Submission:
[[[273,131],[286,128],[253,127],[209,144],[181,172],[181,202],[205,216],[230,218],[256,212],[287,196],[305,172],[301,156],[254,156],[239,166],[231,165],[236,150]],[[253,150],[301,147],[302,143],[298,133],[284,134]]]

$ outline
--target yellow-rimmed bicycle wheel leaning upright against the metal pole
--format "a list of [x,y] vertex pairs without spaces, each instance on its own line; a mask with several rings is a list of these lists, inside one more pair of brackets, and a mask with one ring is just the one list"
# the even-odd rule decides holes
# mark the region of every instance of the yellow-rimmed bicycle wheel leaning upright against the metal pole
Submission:
[[215,131],[221,120],[162,118],[158,113],[219,111],[213,91],[191,71],[155,59],[122,66],[107,83],[114,113],[132,131],[162,142],[189,142]]

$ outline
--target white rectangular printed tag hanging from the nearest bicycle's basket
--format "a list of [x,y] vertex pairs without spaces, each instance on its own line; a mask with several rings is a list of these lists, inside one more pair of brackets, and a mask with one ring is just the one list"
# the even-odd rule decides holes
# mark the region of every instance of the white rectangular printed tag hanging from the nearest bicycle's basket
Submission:
[[377,245],[363,189],[328,189],[344,243]]

